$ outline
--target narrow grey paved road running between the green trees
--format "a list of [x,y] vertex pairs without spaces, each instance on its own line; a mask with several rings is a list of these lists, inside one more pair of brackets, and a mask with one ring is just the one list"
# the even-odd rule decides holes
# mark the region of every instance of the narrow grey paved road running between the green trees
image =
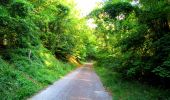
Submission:
[[30,100],[112,100],[99,77],[86,63]]

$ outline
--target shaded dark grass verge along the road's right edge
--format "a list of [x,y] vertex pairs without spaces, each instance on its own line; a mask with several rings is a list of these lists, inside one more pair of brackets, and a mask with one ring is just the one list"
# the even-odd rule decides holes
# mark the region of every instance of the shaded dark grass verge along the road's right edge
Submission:
[[111,92],[113,100],[170,100],[170,90],[123,80],[120,74],[106,67],[95,67],[104,86]]

